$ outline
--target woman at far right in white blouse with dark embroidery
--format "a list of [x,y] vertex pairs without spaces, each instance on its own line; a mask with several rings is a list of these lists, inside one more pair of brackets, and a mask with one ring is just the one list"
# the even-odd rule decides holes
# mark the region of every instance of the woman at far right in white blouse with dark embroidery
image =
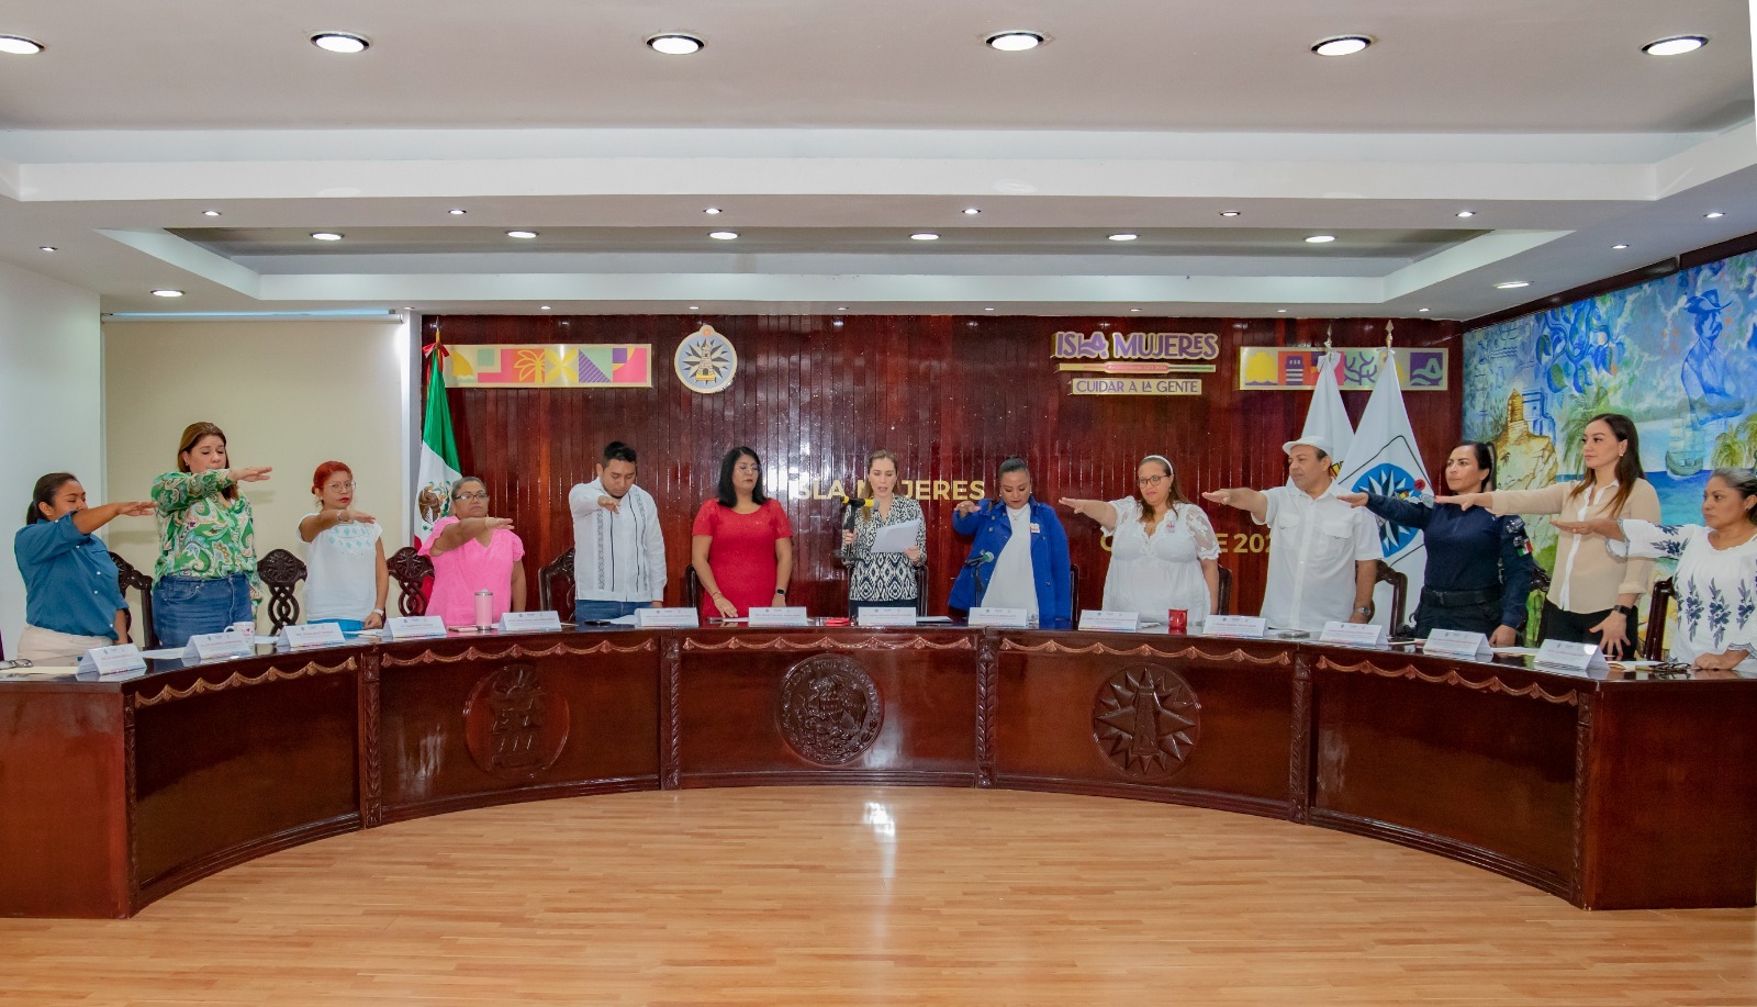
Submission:
[[[1673,661],[1757,673],[1757,475],[1715,469],[1703,487],[1703,524],[1645,520],[1555,522],[1560,531],[1602,534],[1615,555],[1678,561],[1678,634]],[[1706,525],[1706,527],[1704,527]]]

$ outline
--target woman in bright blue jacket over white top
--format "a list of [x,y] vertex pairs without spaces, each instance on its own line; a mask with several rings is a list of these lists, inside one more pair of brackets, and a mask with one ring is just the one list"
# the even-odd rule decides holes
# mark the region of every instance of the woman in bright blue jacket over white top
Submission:
[[947,608],[1023,608],[1044,627],[1072,622],[1068,532],[1049,504],[1031,497],[1024,459],[1001,462],[1000,503],[958,504],[952,531],[975,541]]

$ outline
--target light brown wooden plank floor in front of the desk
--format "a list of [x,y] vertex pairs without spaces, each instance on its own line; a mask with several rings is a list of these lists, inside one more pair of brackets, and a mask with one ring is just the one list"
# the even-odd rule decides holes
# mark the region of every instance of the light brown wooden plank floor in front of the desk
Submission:
[[1757,912],[1581,912],[1139,801],[641,793],[281,852],[132,921],[0,919],[0,1002],[1757,1003]]

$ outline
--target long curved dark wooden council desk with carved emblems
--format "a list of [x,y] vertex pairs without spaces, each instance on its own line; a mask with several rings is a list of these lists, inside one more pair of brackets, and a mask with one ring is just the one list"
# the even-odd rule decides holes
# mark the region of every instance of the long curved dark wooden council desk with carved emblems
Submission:
[[921,627],[0,675],[0,914],[127,917],[278,849],[459,808],[763,784],[1170,801],[1397,842],[1585,909],[1757,902],[1757,680]]

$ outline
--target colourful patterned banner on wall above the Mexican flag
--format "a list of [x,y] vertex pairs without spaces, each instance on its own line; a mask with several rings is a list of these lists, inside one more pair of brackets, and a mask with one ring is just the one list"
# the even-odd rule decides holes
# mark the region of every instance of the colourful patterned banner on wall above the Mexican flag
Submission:
[[450,388],[652,388],[650,343],[448,346]]

